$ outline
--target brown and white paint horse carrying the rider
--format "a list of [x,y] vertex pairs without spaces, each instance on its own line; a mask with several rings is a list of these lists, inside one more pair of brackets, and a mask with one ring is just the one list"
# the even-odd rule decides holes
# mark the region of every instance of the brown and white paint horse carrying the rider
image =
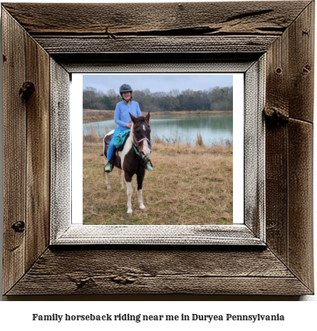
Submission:
[[[130,114],[130,113],[129,113]],[[125,140],[123,148],[120,148],[118,152],[115,152],[114,155],[114,164],[119,171],[119,182],[121,189],[124,189],[123,186],[123,174],[125,177],[125,183],[127,186],[127,195],[128,195],[128,211],[127,215],[132,215],[132,177],[136,174],[137,176],[137,199],[139,201],[139,208],[141,210],[145,209],[143,204],[142,197],[142,183],[145,177],[145,168],[147,166],[147,159],[150,157],[150,112],[144,116],[135,117],[130,114],[132,121],[132,126],[130,128],[130,135],[128,139]],[[105,164],[108,163],[107,159],[107,150],[108,145],[105,143],[105,135],[103,139],[103,155],[105,157]],[[106,177],[106,186],[107,189],[110,189],[109,182],[109,173],[105,173]]]

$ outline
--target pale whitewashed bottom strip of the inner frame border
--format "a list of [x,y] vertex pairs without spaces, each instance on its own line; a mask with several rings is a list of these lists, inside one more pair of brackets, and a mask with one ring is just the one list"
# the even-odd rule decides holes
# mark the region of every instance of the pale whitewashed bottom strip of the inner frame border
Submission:
[[[63,197],[56,190],[56,196]],[[60,199],[62,201],[63,199]],[[67,204],[56,204],[63,210]],[[60,216],[57,214],[57,216]],[[262,222],[263,224],[264,222]],[[65,228],[67,229],[65,231]],[[51,221],[52,245],[223,245],[223,246],[264,246],[244,224],[232,226],[82,226],[71,224],[65,216]]]

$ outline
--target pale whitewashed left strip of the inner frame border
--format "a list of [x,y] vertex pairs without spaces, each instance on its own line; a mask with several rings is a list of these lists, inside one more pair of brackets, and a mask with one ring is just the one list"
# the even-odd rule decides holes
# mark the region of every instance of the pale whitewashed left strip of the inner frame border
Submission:
[[50,66],[51,242],[71,224],[71,112],[69,74],[53,59]]

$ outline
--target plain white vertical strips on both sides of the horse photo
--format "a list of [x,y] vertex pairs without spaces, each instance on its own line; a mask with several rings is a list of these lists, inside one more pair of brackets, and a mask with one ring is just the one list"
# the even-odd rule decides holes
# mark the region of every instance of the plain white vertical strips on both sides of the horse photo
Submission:
[[[244,117],[241,114],[244,113],[244,74],[234,73],[230,75],[233,75],[234,84],[234,224],[243,224],[244,177],[241,174],[244,173],[244,159],[241,155],[244,155]],[[83,117],[78,117],[78,110],[83,107],[82,91],[83,75],[80,73],[73,74],[71,83],[72,204],[76,208],[71,211],[72,224],[83,224]],[[100,152],[103,152],[102,145],[100,145]],[[110,176],[118,177],[118,174],[115,172]],[[107,194],[106,191],[105,194]]]

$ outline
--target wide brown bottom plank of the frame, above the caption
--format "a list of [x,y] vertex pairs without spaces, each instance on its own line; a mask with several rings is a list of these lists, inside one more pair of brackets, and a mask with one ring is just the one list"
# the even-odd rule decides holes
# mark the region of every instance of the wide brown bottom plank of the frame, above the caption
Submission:
[[46,251],[9,295],[310,293],[270,251]]

